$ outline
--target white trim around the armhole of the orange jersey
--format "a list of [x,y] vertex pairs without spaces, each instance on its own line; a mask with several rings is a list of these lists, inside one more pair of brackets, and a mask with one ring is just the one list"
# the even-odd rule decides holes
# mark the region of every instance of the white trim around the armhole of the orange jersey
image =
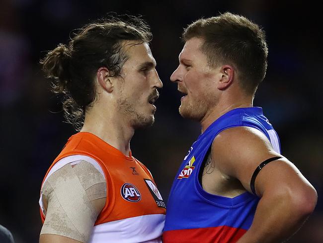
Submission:
[[[51,168],[51,170],[48,172],[43,185],[45,184],[45,181],[47,180],[47,178],[49,176],[51,176],[55,171],[57,171],[58,169],[62,168],[64,165],[67,164],[71,164],[71,165],[76,165],[78,163],[80,163],[82,160],[85,160],[86,162],[92,164],[105,178],[104,172],[100,166],[100,164],[93,158],[86,156],[86,155],[70,155],[67,156],[65,158],[60,159],[59,161],[57,161],[54,166]],[[105,178],[106,181],[106,178]],[[42,186],[43,186],[42,185]],[[39,206],[42,210],[42,212],[44,213],[44,209],[43,209],[43,195],[40,194],[40,199],[39,199]]]

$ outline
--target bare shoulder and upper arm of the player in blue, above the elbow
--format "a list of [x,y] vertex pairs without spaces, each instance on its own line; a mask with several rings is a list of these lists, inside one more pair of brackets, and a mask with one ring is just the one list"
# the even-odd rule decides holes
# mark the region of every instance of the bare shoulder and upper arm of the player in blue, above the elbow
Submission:
[[292,185],[306,187],[309,184],[296,166],[275,152],[268,138],[255,128],[225,130],[214,140],[214,148],[214,156],[219,156],[220,169],[239,179],[249,192],[251,178],[258,165],[269,158],[278,157],[263,166],[255,177],[258,196],[262,196],[266,190],[289,190]]

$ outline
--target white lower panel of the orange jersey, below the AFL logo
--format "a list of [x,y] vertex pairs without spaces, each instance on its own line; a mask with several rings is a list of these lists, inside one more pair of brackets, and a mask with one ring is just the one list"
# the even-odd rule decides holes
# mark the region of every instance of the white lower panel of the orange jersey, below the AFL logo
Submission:
[[164,221],[151,214],[96,225],[89,243],[161,243]]

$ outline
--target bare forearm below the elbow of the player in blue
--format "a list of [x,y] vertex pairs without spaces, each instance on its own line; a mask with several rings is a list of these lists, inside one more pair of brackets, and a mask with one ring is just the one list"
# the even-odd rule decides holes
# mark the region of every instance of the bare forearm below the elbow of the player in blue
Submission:
[[[306,200],[306,199],[305,199]],[[311,204],[312,202],[308,202]],[[238,243],[280,243],[290,238],[315,207],[300,202],[291,194],[267,193],[258,203],[250,229]]]

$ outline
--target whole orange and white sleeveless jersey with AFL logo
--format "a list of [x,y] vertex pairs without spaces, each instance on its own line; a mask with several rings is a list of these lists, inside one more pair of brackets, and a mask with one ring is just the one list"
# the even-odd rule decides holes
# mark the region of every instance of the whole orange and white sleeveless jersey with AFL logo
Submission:
[[[58,161],[75,155],[95,160],[106,180],[106,204],[97,217],[89,243],[161,243],[165,204],[151,173],[131,153],[125,156],[94,134],[79,132],[71,136],[43,183]],[[41,204],[44,222],[42,211]]]

